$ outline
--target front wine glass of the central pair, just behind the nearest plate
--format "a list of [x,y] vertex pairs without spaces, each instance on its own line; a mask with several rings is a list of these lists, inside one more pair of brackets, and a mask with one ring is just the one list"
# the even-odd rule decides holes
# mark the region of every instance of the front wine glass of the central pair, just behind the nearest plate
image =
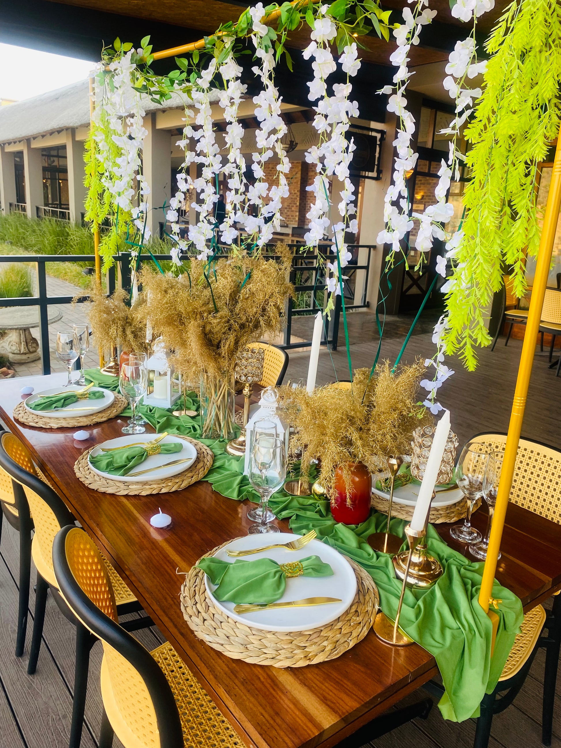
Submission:
[[269,497],[278,491],[286,478],[286,454],[284,442],[274,436],[260,436],[254,443],[249,459],[248,478],[251,485],[261,495],[261,521],[252,524],[249,534],[279,533],[274,524],[267,519]]

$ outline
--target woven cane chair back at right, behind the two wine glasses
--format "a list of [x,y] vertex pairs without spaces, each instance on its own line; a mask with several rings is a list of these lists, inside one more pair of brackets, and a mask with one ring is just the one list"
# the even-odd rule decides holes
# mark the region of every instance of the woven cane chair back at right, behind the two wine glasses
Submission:
[[[506,434],[477,434],[471,441],[503,453]],[[561,452],[539,441],[521,439],[509,500],[561,524]]]

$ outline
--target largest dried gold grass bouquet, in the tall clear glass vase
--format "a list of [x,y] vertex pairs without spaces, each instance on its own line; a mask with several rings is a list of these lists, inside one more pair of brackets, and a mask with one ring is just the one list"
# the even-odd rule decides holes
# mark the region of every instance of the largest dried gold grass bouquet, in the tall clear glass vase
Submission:
[[278,334],[289,283],[290,253],[278,245],[281,262],[240,254],[227,260],[191,260],[180,278],[143,269],[144,315],[174,352],[174,366],[190,377],[232,373],[248,343]]

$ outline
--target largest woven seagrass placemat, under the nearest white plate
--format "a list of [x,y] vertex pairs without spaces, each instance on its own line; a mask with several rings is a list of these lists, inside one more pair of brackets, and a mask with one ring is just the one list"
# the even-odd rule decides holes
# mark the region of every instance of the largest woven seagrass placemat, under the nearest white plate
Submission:
[[[212,556],[223,545],[205,556]],[[233,660],[274,667],[334,660],[366,637],[378,612],[378,589],[373,578],[351,559],[347,561],[357,577],[357,594],[343,615],[322,628],[293,633],[262,631],[234,621],[206,596],[204,571],[194,566],[181,586],[183,618],[199,639]]]

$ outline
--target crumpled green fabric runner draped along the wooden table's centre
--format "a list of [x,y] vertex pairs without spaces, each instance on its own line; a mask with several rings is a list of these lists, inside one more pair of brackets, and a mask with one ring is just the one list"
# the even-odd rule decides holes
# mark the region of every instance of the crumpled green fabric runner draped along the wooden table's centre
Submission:
[[[102,387],[118,389],[116,377],[100,375],[99,370],[88,370],[85,374]],[[195,393],[188,393],[187,403],[187,408],[198,410]],[[177,417],[163,408],[144,405],[141,413],[156,432],[200,438],[198,417]],[[225,453],[224,440],[200,441],[215,455],[212,468],[203,480],[209,481],[212,488],[225,497],[257,502],[257,491],[243,475],[243,459]],[[373,512],[362,524],[347,526],[334,521],[328,500],[291,496],[283,490],[273,494],[269,506],[279,519],[289,520],[289,527],[295,533],[304,535],[316,530],[319,540],[365,568],[378,587],[381,609],[388,616],[395,616],[401,583],[396,579],[390,557],[373,551],[367,543],[371,533],[385,530],[387,515]],[[405,524],[397,518],[390,522],[391,532],[404,540],[403,550],[407,548]],[[497,610],[499,626],[491,657],[491,619],[478,602],[483,562],[470,562],[453,551],[431,525],[428,545],[429,551],[441,562],[444,574],[430,589],[407,589],[399,623],[436,659],[446,689],[438,704],[444,718],[462,722],[479,715],[479,703],[484,694],[491,693],[497,685],[523,619],[522,604],[516,595],[495,580],[493,597],[502,602]]]

